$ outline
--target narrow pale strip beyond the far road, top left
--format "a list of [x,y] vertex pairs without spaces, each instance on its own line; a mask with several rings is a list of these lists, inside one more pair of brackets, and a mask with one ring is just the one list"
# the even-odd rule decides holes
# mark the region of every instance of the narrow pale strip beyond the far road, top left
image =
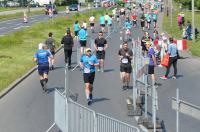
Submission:
[[[44,7],[38,7],[38,8],[30,8],[30,11],[38,11],[38,10],[43,10]],[[21,9],[17,9],[17,10],[10,10],[10,11],[2,11],[0,12],[0,15],[8,15],[8,14],[15,14],[18,12],[23,12],[23,11],[27,11],[27,8],[21,8]]]

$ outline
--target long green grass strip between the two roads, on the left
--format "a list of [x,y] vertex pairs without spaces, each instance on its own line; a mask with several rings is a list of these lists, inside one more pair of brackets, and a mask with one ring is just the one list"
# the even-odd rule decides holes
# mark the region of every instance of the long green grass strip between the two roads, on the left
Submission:
[[56,47],[59,47],[66,26],[72,29],[75,20],[82,23],[91,14],[98,16],[105,12],[105,9],[101,9],[84,14],[76,13],[74,16],[40,22],[22,31],[0,37],[0,91],[36,65],[32,61],[33,55],[37,50],[38,43],[44,42],[49,32],[53,32]]

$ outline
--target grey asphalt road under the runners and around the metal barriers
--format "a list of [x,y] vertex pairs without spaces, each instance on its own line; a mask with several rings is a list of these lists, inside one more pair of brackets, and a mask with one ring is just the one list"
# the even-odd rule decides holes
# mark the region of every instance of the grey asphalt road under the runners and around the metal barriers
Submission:
[[[152,30],[150,31],[152,32]],[[134,29],[133,37],[141,37],[141,29]],[[105,34],[106,35],[106,34]],[[95,36],[93,36],[95,37]],[[97,73],[94,83],[94,103],[89,106],[93,110],[114,117],[131,125],[136,125],[133,117],[127,117],[126,98],[132,89],[122,91],[119,78],[118,50],[120,33],[113,33],[108,39],[106,51],[105,73]],[[77,44],[77,42],[76,42]],[[181,52],[186,59],[178,62],[178,79],[160,80],[158,88],[158,115],[164,120],[165,131],[175,132],[176,113],[171,109],[171,97],[175,97],[176,88],[180,88],[182,100],[200,105],[199,103],[199,64],[198,58]],[[188,57],[188,58],[187,58]],[[76,49],[73,52],[73,66],[76,65]],[[63,50],[56,54],[56,69],[49,74],[48,88],[45,94],[39,84],[37,72],[31,74],[15,89],[0,100],[0,128],[2,132],[44,132],[53,123],[53,89],[64,88],[64,56]],[[157,68],[157,76],[163,75],[165,68]],[[173,71],[173,70],[172,70]],[[76,69],[69,73],[69,88],[78,93],[78,102],[86,105],[82,73]],[[150,97],[149,104],[150,105]],[[88,107],[88,106],[87,106]],[[148,108],[151,113],[151,107]],[[199,132],[199,121],[180,114],[180,132]]]

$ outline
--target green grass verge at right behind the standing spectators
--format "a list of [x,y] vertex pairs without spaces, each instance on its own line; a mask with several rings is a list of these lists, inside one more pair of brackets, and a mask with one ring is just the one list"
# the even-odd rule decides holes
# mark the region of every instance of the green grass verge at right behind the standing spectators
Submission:
[[[187,23],[188,20],[192,22],[191,12],[190,11],[183,11],[183,12],[185,14],[185,20],[186,20],[185,23]],[[166,31],[167,33],[169,33],[176,39],[181,39],[183,31],[179,30],[178,28],[178,23],[177,23],[178,13],[180,13],[178,9],[173,12],[172,27],[170,26],[170,16],[167,17],[165,14],[163,18],[163,29],[164,31]],[[199,12],[195,13],[195,27],[198,27],[200,29],[200,13]],[[188,45],[189,45],[189,50],[191,51],[192,55],[200,57],[200,37],[198,37],[198,39],[194,43],[192,41],[188,41]]]

